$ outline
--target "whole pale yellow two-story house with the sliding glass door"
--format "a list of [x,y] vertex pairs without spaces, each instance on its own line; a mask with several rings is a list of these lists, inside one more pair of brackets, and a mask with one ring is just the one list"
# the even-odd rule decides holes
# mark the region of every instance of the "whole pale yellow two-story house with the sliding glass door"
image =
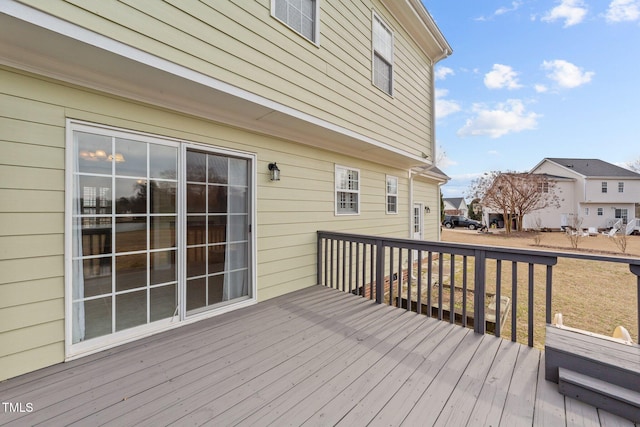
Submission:
[[419,0],[0,2],[0,380],[438,239],[450,53]]

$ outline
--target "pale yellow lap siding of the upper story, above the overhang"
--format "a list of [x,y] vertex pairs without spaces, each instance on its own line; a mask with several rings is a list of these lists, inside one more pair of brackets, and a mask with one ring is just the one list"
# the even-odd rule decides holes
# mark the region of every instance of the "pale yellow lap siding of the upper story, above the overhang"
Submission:
[[[136,1],[21,2],[413,155],[435,157],[425,138],[433,126],[433,58],[378,0],[321,0],[318,45],[273,18],[271,0],[180,0],[152,8]],[[372,83],[372,12],[393,31],[393,97]]]

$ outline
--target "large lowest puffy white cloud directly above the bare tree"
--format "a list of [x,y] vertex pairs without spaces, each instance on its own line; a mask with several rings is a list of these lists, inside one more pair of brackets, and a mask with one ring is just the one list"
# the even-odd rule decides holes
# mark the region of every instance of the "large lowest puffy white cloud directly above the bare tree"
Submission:
[[508,133],[532,130],[538,126],[541,115],[527,112],[519,99],[509,99],[494,109],[474,105],[475,117],[468,119],[458,130],[458,136],[489,136],[499,138]]

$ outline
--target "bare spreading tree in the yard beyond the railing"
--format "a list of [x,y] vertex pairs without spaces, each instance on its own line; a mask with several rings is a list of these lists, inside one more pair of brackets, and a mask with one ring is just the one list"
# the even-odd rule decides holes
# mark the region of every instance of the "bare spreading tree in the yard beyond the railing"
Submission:
[[544,174],[529,172],[486,173],[471,184],[471,197],[479,198],[483,207],[502,212],[505,231],[522,231],[525,215],[551,206],[559,206],[556,183]]

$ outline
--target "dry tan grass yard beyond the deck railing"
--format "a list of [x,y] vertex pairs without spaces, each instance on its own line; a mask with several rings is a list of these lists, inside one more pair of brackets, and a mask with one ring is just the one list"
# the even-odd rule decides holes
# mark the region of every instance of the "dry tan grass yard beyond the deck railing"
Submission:
[[[616,257],[640,257],[640,236],[627,236],[626,253],[622,253],[615,241],[603,235],[582,237],[578,248],[573,249],[565,233],[533,232],[507,235],[498,231],[491,234],[470,230],[442,231],[442,240],[476,245],[516,247],[552,252],[579,252]],[[470,268],[473,268],[471,265]],[[456,273],[456,276],[458,273]],[[518,267],[518,341],[526,342],[527,327],[527,267]],[[487,291],[495,292],[495,262],[487,264]],[[471,276],[473,277],[473,276]],[[456,277],[456,282],[459,279]],[[511,263],[502,265],[502,293],[510,296]],[[561,312],[564,324],[604,335],[611,335],[616,326],[627,328],[634,342],[638,342],[637,278],[626,264],[597,261],[559,259],[553,268],[553,313]],[[545,325],[545,269],[536,267],[534,287],[534,343],[544,346]],[[509,316],[511,313],[509,313]],[[509,317],[510,319],[510,317]],[[511,336],[507,319],[502,336]]]

